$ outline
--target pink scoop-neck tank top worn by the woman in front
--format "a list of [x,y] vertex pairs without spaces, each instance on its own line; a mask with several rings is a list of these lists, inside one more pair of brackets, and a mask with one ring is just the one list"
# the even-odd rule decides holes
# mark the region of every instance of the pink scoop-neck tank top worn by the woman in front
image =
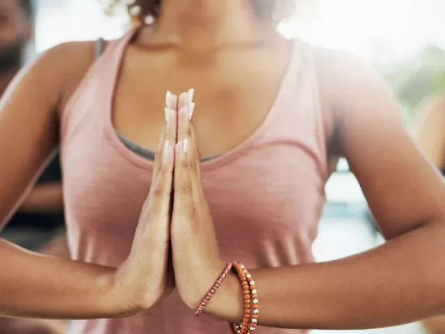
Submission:
[[[152,161],[129,150],[111,122],[114,87],[131,35],[108,45],[90,67],[61,122],[72,257],[111,267],[129,255],[152,170]],[[312,49],[295,43],[266,120],[237,148],[202,164],[221,255],[252,269],[312,262],[325,203],[325,138]],[[245,234],[250,238],[244,239]],[[127,319],[73,321],[69,333],[227,334],[227,324],[206,315],[194,317],[173,292],[151,310]],[[258,333],[307,332],[258,328]]]

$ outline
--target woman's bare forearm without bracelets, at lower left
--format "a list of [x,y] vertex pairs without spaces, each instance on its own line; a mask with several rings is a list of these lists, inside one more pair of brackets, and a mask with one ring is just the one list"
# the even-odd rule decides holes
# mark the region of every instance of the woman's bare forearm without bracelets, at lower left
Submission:
[[115,269],[27,252],[0,241],[0,315],[47,319],[118,317]]

